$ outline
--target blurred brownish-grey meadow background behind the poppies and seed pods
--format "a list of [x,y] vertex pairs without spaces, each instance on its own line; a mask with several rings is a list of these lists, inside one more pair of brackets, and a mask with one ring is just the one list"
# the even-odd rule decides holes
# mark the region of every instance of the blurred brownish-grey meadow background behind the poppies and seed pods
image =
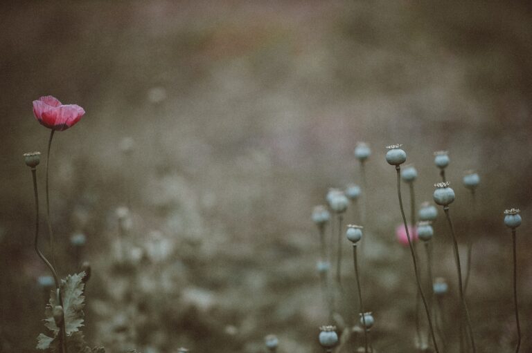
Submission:
[[[78,271],[80,260],[93,269],[91,345],[264,352],[264,336],[276,334],[279,352],[320,352],[317,327],[329,320],[310,214],[329,187],[360,184],[353,149],[364,141],[373,153],[362,289],[375,352],[414,347],[415,282],[396,240],[396,175],[384,160],[394,143],[418,169],[418,204],[432,200],[439,181],[433,152],[449,151],[451,213],[458,233],[475,240],[468,303],[481,352],[513,352],[511,236],[502,220],[504,209],[522,209],[522,352],[532,350],[531,31],[529,1],[4,4],[0,351],[34,352],[46,333],[48,289],[37,278],[48,272],[33,251],[22,159],[46,152],[49,131],[32,113],[42,95],[87,111],[55,134],[50,188],[58,271]],[[467,169],[481,177],[476,213],[461,184]],[[44,163],[37,170],[44,201]],[[456,271],[439,210],[434,273],[450,283],[452,345]],[[346,222],[357,217],[349,209]],[[82,246],[71,241],[79,233]],[[357,296],[345,247],[349,321]],[[117,269],[124,258],[130,266]]]

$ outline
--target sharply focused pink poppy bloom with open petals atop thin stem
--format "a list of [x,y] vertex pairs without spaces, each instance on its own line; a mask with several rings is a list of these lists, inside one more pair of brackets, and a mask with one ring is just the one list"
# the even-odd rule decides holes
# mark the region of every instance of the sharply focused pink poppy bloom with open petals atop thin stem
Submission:
[[85,110],[76,104],[61,104],[51,95],[33,101],[33,114],[41,125],[63,131],[80,121]]

